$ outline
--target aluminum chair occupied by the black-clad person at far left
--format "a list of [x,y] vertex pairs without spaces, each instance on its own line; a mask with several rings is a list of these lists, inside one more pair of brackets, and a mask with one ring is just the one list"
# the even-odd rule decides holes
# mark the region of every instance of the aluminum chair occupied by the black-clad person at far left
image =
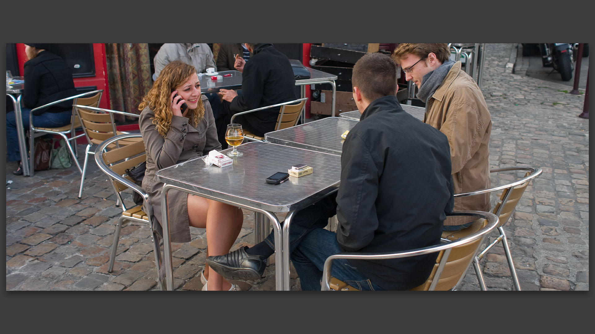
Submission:
[[[64,125],[63,127],[58,127],[58,128],[35,127],[35,124],[33,124],[33,112],[37,111],[39,109],[47,108],[52,105],[56,105],[56,104],[64,102],[64,101],[68,101],[68,100],[73,100],[73,104],[75,104],[75,105],[85,105],[85,106],[95,106],[96,107],[99,105],[99,101],[101,101],[101,94],[103,93],[103,91],[104,90],[99,89],[99,90],[93,90],[92,92],[77,94],[74,96],[66,97],[61,100],[47,103],[45,105],[39,106],[39,107],[31,110],[31,112],[29,113],[29,150],[31,152],[29,155],[31,157],[29,159],[29,176],[32,177],[33,174],[35,173],[35,168],[34,168],[35,161],[33,159],[33,157],[35,156],[35,144],[34,144],[35,138],[43,136],[45,134],[57,134],[57,135],[61,136],[62,138],[64,138],[64,141],[68,144],[67,145],[68,151],[70,152],[70,155],[73,157],[74,164],[79,169],[79,172],[81,174],[83,173],[82,169],[80,168],[79,160],[77,160],[77,156],[79,156],[79,155],[77,152],[76,140],[77,140],[77,138],[82,137],[84,135],[76,134],[76,129],[80,128],[81,125],[80,125],[79,116],[74,111],[74,108],[73,108],[73,114],[70,119],[70,124],[67,124],[67,125]],[[66,137],[67,134],[70,134],[70,138]],[[73,146],[74,146],[74,149],[73,149]]]

